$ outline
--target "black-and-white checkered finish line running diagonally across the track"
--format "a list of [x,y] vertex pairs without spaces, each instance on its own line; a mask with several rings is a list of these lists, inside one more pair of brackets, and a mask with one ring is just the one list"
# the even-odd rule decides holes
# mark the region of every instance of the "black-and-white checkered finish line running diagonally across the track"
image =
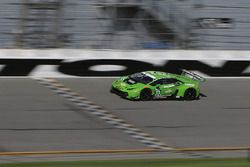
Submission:
[[98,106],[87,98],[81,96],[80,94],[74,92],[73,90],[65,87],[57,80],[52,78],[34,78],[39,83],[50,88],[55,93],[63,96],[68,101],[78,106],[83,111],[86,111],[106,123],[112,125],[113,127],[122,130],[124,133],[128,134],[137,141],[145,144],[146,146],[164,151],[174,151],[175,149],[167,146],[165,143],[161,142],[159,139],[151,136],[148,133],[143,132],[141,129],[135,127],[134,125],[128,123],[124,119],[119,118],[108,110]]

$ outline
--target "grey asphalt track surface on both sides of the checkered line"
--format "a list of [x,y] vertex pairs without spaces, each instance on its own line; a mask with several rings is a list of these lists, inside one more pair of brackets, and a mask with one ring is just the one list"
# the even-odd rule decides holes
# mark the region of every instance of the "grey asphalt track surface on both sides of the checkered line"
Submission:
[[[129,101],[111,94],[109,89],[114,78],[57,80],[170,147],[250,147],[250,79],[208,79],[201,85],[206,97],[200,100],[147,102]],[[1,78],[0,81],[0,152],[147,148],[35,80]],[[168,155],[179,157],[161,154]],[[230,155],[245,156],[246,152]],[[65,156],[58,157],[65,159]],[[93,158],[85,155],[90,157]],[[95,157],[106,158],[106,155]],[[6,158],[0,157],[0,162],[6,162]]]

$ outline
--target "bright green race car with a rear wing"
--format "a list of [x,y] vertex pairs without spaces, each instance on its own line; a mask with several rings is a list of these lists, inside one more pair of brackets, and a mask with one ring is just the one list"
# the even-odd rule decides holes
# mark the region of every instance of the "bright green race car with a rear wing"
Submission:
[[167,97],[194,100],[200,96],[200,82],[205,82],[205,79],[187,70],[180,75],[145,71],[116,79],[111,92],[130,100]]

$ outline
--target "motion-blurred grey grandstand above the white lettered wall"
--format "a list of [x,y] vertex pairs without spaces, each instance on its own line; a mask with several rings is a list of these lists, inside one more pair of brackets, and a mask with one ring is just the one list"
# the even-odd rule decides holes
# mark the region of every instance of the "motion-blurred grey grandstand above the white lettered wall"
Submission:
[[1,0],[0,48],[250,48],[249,0]]

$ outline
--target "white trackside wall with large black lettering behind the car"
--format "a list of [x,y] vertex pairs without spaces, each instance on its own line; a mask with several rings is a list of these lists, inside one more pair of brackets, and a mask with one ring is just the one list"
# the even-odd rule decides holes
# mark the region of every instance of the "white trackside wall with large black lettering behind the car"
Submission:
[[0,50],[2,77],[113,77],[181,69],[204,77],[250,77],[250,51]]

